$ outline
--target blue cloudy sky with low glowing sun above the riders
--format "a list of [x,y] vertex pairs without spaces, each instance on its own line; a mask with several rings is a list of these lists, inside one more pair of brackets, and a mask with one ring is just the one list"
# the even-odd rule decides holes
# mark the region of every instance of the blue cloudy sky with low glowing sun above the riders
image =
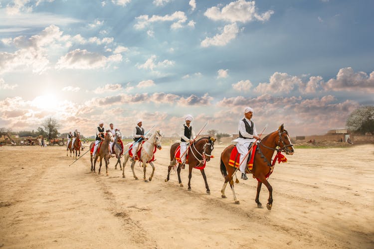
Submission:
[[[0,0],[0,127],[344,128],[374,105],[373,0]],[[202,133],[204,133],[204,131]]]

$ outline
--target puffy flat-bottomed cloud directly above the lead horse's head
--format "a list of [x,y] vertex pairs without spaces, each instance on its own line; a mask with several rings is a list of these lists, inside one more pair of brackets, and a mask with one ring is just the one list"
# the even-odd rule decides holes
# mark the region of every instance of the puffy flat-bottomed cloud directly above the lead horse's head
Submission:
[[287,73],[275,72],[269,79],[269,83],[259,83],[255,91],[259,93],[290,93],[295,86],[302,84],[297,76],[291,76]]

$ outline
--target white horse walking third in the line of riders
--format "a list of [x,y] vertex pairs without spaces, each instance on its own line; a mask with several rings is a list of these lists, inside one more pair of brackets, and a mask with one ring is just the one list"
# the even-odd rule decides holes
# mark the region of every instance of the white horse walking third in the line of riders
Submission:
[[[157,130],[155,132],[155,134],[151,135],[149,137],[149,139],[143,143],[141,153],[140,153],[140,161],[142,162],[142,166],[143,166],[143,170],[144,170],[144,181],[145,182],[148,182],[148,180],[146,179],[147,162],[152,160],[153,155],[154,155],[154,151],[155,151],[155,146],[158,149],[162,148],[161,147],[161,138],[162,138],[162,134],[161,134],[160,130]],[[130,143],[126,144],[124,146],[124,151],[128,151],[129,148],[130,148],[130,145],[132,143],[133,142],[130,142]],[[129,157],[130,157],[129,153],[126,153],[124,155],[122,178],[125,178],[125,166],[126,166],[127,161],[129,160]],[[136,163],[136,161],[132,162],[131,169],[133,171],[135,180],[138,180],[138,177],[135,175],[135,172],[134,172],[135,163]],[[155,173],[155,165],[153,165],[153,162],[149,162],[149,164],[152,166],[152,174],[149,177],[149,180],[152,181],[153,174]]]

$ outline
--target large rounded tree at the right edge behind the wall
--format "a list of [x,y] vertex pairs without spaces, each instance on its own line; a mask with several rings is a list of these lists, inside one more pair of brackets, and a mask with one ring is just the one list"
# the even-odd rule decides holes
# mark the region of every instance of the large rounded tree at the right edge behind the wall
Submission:
[[347,119],[347,128],[353,132],[374,135],[374,106],[361,107],[353,111]]

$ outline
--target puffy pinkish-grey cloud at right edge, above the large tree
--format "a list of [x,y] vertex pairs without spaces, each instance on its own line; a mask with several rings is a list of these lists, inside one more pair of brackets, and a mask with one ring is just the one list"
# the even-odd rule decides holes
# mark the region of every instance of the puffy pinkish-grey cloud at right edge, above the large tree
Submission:
[[339,70],[336,79],[330,79],[325,85],[326,91],[359,91],[374,93],[374,71],[368,76],[365,72],[357,72],[351,68]]

